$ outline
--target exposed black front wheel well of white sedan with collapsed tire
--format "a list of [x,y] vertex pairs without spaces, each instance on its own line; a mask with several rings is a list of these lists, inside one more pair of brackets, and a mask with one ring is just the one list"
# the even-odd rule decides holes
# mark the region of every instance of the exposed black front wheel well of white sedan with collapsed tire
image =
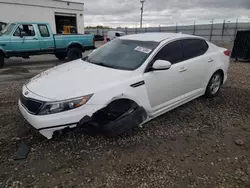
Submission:
[[[92,116],[99,130],[108,136],[132,131],[147,118],[147,112],[130,99],[117,99]],[[93,124],[92,124],[93,125]],[[93,126],[92,126],[93,127]]]

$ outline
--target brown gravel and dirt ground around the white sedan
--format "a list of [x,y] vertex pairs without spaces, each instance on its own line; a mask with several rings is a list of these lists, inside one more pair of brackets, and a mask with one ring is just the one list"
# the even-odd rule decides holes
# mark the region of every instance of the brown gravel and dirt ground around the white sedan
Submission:
[[[250,187],[250,63],[231,64],[217,98],[112,139],[67,133],[48,141],[26,128],[17,100],[34,72],[23,72],[0,81],[0,187]],[[24,140],[31,152],[15,161]]]

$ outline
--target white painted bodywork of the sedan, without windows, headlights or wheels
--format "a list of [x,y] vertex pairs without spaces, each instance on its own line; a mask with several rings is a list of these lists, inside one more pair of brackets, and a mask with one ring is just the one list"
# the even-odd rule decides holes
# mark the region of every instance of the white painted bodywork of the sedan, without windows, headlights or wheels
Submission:
[[[204,95],[211,76],[224,72],[227,79],[229,57],[226,49],[210,42],[208,51],[199,57],[173,64],[169,70],[145,72],[157,52],[166,44],[185,38],[200,38],[183,34],[150,33],[128,35],[120,39],[155,41],[159,46],[145,62],[134,71],[125,71],[76,60],[54,67],[31,79],[23,86],[23,95],[41,101],[61,101],[93,94],[87,104],[66,112],[51,115],[32,115],[19,101],[24,118],[48,139],[53,132],[65,127],[75,127],[84,117],[117,99],[131,99],[147,112],[145,122]],[[95,52],[94,52],[95,53]],[[140,87],[132,84],[144,81]],[[28,94],[27,94],[28,93]],[[144,123],[145,123],[144,122]],[[65,125],[56,127],[57,125]],[[53,127],[44,129],[46,127]]]

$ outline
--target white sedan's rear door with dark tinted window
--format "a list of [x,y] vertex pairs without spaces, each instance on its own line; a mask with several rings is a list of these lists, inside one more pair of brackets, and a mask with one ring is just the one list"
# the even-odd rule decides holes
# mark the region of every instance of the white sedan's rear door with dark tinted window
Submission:
[[183,39],[182,67],[186,70],[183,90],[187,93],[187,98],[201,95],[206,87],[206,74],[209,72],[209,54],[206,53],[208,45],[203,39]]

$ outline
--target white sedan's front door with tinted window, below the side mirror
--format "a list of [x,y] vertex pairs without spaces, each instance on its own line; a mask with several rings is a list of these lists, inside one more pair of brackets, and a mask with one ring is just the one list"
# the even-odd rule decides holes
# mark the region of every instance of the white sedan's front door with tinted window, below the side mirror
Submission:
[[182,41],[173,41],[164,46],[149,64],[150,67],[156,60],[166,60],[172,63],[170,69],[156,71],[147,69],[144,73],[148,99],[153,112],[174,104],[184,97],[186,90],[183,86],[188,81],[182,59]]

